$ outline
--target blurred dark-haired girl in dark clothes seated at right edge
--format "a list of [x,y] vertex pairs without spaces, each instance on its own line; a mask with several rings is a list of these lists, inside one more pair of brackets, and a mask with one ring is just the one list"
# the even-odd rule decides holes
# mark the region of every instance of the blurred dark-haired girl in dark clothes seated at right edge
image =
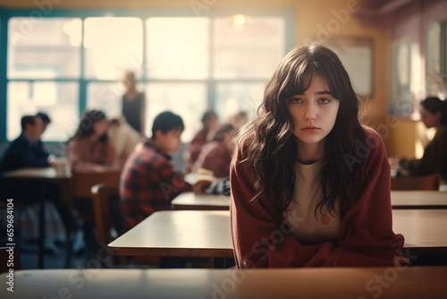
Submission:
[[440,174],[443,184],[447,184],[447,101],[431,97],[420,104],[421,121],[428,129],[435,128],[436,134],[426,146],[422,158],[401,158],[399,166],[409,175]]

